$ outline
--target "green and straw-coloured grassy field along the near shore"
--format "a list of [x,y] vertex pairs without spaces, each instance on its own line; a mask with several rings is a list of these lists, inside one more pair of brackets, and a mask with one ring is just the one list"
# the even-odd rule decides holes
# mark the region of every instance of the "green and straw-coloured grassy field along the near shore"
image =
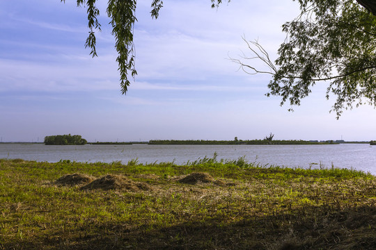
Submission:
[[375,249],[376,177],[0,159],[0,249]]

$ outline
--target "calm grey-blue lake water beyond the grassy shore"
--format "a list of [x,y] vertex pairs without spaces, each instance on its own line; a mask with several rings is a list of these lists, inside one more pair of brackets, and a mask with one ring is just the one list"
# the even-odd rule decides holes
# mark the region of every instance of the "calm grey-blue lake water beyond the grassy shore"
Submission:
[[[369,144],[336,145],[84,145],[46,146],[44,144],[0,144],[0,158],[22,158],[57,162],[102,161],[111,163],[138,158],[139,163],[187,163],[205,156],[237,159],[245,156],[249,162],[287,167],[343,167],[376,174],[376,146]],[[315,164],[313,164],[315,163]]]

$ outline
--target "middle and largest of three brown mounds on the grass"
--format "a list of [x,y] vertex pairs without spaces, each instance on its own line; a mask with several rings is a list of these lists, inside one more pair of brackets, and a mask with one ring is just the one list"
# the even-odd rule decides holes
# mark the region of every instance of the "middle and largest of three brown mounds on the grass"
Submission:
[[150,187],[146,183],[136,183],[125,176],[107,174],[102,178],[97,178],[95,181],[84,185],[81,188],[82,190],[130,190],[130,191],[139,191],[139,190],[150,190]]

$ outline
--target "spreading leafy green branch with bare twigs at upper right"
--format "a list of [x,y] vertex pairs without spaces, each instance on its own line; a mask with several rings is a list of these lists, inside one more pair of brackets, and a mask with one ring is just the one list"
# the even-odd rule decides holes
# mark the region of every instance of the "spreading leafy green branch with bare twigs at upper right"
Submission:
[[[267,96],[280,96],[281,105],[299,105],[313,85],[327,82],[337,118],[343,109],[376,106],[375,1],[358,2],[370,7],[351,0],[299,0],[301,14],[283,25],[287,35],[274,62],[258,41],[246,41],[252,56],[233,61],[249,74],[271,74]],[[256,69],[254,59],[268,69]]]

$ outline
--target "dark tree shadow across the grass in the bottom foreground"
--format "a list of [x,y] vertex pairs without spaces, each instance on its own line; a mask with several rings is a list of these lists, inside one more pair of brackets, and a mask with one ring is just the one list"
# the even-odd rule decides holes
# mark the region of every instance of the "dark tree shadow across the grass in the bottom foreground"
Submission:
[[20,238],[1,244],[0,237],[0,249],[375,249],[375,206],[322,211],[250,216],[229,224],[212,218],[148,230],[142,225],[87,225],[36,236],[33,242]]

